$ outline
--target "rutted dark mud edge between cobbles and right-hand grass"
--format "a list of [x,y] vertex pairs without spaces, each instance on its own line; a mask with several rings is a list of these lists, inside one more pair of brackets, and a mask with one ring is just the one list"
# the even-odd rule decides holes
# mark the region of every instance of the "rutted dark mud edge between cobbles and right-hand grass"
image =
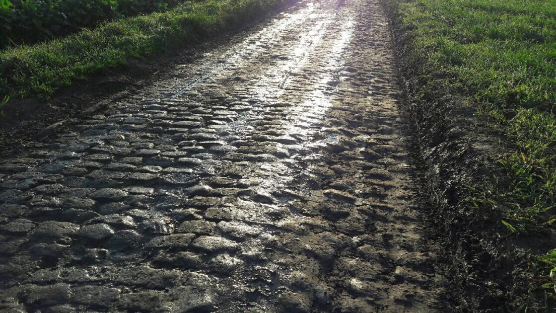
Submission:
[[[395,8],[383,1],[394,38],[398,75],[404,90],[403,109],[410,120],[414,157],[420,167],[419,200],[429,208],[428,223],[446,247],[451,268],[451,309],[461,312],[513,312],[528,301],[532,273],[530,242],[508,237],[501,215],[466,206],[466,187],[491,177],[498,136],[459,95],[424,92],[407,50],[411,38]],[[426,191],[425,191],[426,190]],[[494,214],[493,214],[494,213]],[[530,308],[532,309],[532,308]]]

